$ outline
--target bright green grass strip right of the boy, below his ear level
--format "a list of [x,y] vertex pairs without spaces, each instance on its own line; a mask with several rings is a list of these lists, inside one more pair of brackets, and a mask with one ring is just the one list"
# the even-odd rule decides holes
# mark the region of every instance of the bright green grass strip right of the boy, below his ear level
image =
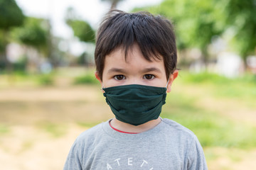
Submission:
[[188,85],[207,89],[207,93],[216,99],[236,100],[256,109],[256,75],[245,74],[234,79],[208,72],[200,74],[181,72],[180,75],[178,78],[185,87]]

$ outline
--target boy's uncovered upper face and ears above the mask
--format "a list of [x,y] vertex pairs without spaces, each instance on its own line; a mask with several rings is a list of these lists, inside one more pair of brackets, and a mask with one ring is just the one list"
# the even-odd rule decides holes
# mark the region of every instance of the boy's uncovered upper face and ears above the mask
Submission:
[[[105,57],[102,81],[97,73],[95,75],[104,88],[129,84],[165,87],[167,84],[164,60],[147,61],[136,43],[127,52],[127,60],[120,47]],[[177,75],[178,71],[175,71],[169,78],[167,92],[171,91],[171,84]]]

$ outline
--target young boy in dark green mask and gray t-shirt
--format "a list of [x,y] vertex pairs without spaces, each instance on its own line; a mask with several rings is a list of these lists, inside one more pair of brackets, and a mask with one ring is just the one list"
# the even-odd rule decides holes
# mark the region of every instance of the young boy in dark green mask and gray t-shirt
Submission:
[[196,135],[159,117],[176,61],[169,21],[110,11],[97,33],[95,76],[115,118],[83,132],[64,169],[207,169]]

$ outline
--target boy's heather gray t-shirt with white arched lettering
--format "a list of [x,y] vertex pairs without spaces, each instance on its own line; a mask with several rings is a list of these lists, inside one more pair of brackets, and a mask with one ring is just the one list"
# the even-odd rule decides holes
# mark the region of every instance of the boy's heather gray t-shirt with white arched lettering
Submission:
[[196,135],[173,120],[163,119],[146,132],[113,130],[109,121],[96,125],[75,140],[64,170],[78,169],[207,169]]

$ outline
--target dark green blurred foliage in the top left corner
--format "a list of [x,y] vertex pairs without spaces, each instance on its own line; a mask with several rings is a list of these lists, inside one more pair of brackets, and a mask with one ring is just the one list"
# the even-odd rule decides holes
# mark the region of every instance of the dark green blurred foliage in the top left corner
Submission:
[[14,26],[21,26],[23,13],[15,0],[0,0],[0,28],[9,30]]

